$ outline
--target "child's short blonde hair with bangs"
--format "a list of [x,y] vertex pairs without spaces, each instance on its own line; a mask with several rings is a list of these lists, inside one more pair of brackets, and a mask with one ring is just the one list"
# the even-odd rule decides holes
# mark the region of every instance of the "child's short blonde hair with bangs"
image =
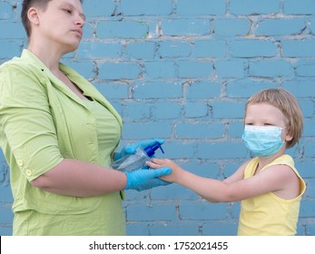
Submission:
[[245,106],[245,114],[247,107],[257,103],[269,103],[279,109],[288,119],[288,128],[290,135],[293,137],[287,142],[287,148],[293,147],[299,142],[303,130],[303,114],[297,99],[284,89],[266,89],[255,93],[247,101]]

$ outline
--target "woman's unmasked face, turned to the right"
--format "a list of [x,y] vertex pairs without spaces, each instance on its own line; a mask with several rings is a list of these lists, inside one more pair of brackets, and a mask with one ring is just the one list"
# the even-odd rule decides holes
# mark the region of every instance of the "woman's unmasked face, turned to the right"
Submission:
[[39,39],[56,47],[62,54],[72,52],[78,47],[85,21],[79,0],[52,0],[44,10],[37,11],[38,24],[34,27],[35,32],[31,39]]

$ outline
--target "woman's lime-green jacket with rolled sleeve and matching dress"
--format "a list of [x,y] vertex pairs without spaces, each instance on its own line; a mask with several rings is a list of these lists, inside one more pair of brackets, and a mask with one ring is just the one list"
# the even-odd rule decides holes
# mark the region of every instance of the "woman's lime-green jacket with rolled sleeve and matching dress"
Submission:
[[79,198],[30,184],[64,158],[108,167],[121,138],[122,119],[113,106],[73,69],[60,69],[95,107],[28,50],[0,66],[0,145],[10,167],[14,234],[124,235],[119,191]]

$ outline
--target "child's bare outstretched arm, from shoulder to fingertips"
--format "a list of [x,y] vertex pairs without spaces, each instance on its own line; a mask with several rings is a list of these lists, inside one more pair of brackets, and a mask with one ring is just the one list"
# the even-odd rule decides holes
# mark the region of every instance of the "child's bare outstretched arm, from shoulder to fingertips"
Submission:
[[[172,173],[162,177],[162,180],[181,184],[211,202],[245,200],[271,191],[285,192],[290,188],[290,182],[297,179],[295,173],[286,165],[272,166],[245,180],[240,179],[244,168],[244,166],[241,166],[231,178],[218,181],[184,171],[178,164],[167,159],[153,159],[150,162],[148,161],[147,164],[153,169],[170,167]],[[294,198],[295,195],[296,193],[292,193],[291,197],[282,196],[282,198],[290,199]]]

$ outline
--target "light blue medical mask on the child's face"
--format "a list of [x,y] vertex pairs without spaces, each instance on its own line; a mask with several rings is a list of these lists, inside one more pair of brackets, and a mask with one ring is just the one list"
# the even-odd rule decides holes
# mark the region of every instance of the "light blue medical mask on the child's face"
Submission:
[[245,125],[241,139],[253,157],[270,157],[280,151],[284,145],[285,142],[281,140],[281,131],[285,128]]

